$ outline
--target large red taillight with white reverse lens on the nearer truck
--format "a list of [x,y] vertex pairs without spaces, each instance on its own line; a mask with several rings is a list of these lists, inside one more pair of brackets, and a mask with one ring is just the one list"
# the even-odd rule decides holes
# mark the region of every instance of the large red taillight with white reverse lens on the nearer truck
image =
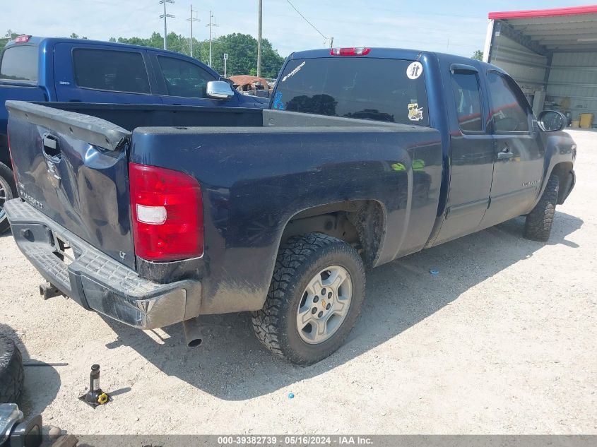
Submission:
[[129,165],[135,254],[148,261],[203,255],[199,182],[184,172]]

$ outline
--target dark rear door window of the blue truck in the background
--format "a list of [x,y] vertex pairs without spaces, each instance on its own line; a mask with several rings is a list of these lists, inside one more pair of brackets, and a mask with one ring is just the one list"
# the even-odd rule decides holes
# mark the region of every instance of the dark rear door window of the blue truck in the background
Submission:
[[143,56],[137,52],[79,48],[73,51],[79,87],[124,93],[150,93]]

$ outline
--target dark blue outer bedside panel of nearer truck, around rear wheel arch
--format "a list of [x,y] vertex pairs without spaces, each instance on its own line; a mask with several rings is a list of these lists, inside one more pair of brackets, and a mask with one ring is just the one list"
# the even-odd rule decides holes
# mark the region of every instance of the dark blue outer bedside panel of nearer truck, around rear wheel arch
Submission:
[[[376,265],[427,242],[439,200],[439,132],[413,126],[309,126],[288,112],[265,128],[142,127],[131,162],[182,169],[203,193],[202,313],[261,309],[285,225],[320,205],[375,201],[384,213]],[[279,115],[279,116],[278,116]],[[336,119],[332,119],[335,121]],[[301,122],[302,121],[302,122]],[[420,169],[413,170],[413,160]]]

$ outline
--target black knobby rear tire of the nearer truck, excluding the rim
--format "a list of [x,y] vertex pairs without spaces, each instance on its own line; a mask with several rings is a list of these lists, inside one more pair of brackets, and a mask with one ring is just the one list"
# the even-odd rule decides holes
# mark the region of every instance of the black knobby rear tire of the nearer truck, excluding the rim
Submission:
[[[309,282],[331,266],[341,266],[350,275],[348,313],[329,338],[309,344],[299,334],[297,311]],[[365,266],[350,244],[321,233],[290,237],[278,251],[264,307],[252,313],[253,328],[259,341],[274,354],[295,364],[313,364],[343,344],[360,314],[364,296]]]

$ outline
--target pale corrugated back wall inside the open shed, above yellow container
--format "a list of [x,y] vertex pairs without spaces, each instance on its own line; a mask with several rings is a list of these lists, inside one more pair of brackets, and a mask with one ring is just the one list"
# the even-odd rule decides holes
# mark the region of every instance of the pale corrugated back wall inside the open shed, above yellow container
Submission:
[[579,113],[597,115],[597,52],[553,54],[546,99],[565,105],[566,97],[572,119]]

